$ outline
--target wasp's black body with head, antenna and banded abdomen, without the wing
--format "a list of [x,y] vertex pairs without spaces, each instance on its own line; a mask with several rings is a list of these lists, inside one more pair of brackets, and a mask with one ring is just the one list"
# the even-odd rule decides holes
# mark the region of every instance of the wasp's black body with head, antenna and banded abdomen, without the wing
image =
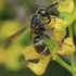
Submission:
[[[47,24],[51,22],[51,16],[48,12],[48,9],[50,9],[55,4],[58,4],[58,2],[50,5],[47,9],[37,10],[36,14],[31,17],[31,21],[30,21],[30,29],[31,29],[30,40],[33,42],[35,50],[39,54],[49,55],[51,53],[49,47],[46,45],[46,42],[42,39],[43,37],[49,38],[49,36],[45,34],[45,31],[50,30],[50,28],[48,28],[47,26]],[[33,34],[36,34],[34,38],[31,38]]]

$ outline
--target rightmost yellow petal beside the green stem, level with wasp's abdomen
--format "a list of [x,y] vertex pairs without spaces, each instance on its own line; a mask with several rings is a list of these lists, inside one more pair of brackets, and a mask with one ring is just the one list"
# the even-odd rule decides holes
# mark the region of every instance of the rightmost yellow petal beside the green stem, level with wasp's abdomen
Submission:
[[68,37],[64,39],[62,45],[62,50],[58,51],[59,54],[73,54],[75,52],[75,46],[73,42],[73,38]]

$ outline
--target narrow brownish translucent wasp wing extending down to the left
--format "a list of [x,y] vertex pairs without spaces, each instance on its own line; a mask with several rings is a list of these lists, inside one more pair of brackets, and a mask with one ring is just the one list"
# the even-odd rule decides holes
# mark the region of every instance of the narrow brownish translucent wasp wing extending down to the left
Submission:
[[13,39],[15,39],[16,37],[21,36],[28,28],[29,28],[29,26],[25,26],[24,28],[22,28],[17,33],[15,33],[12,36],[10,36],[9,38],[7,38],[7,40],[3,43],[3,47],[7,47]]

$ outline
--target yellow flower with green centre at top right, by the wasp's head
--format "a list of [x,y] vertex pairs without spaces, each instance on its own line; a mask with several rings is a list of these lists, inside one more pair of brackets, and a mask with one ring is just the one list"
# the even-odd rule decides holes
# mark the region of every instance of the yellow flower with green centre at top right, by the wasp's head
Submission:
[[65,0],[59,3],[58,10],[60,12],[59,17],[55,17],[55,23],[53,25],[52,22],[48,24],[50,28],[55,28],[58,31],[63,31],[67,26],[69,26],[76,20],[76,11],[74,8],[73,0]]

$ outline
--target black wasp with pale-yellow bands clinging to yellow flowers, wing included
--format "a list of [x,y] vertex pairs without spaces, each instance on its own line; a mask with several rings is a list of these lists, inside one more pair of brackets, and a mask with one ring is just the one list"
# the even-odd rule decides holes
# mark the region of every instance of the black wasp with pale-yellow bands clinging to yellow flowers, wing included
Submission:
[[[51,4],[50,7],[48,7],[46,9],[38,9],[30,20],[30,25],[25,26],[17,33],[10,36],[4,41],[4,46],[8,46],[10,43],[10,41],[12,41],[13,39],[15,39],[20,35],[22,35],[25,30],[30,28],[30,36],[29,36],[30,40],[33,39],[33,34],[36,34],[35,38],[33,39],[34,48],[36,49],[36,51],[38,53],[49,54],[50,53],[49,49],[48,49],[47,45],[42,41],[42,38],[43,38],[43,36],[48,37],[48,35],[45,35],[43,31],[49,30],[49,27],[47,26],[47,24],[49,24],[51,22],[51,18],[54,18],[54,17],[50,16],[48,9],[50,9],[56,4],[58,4],[58,2]],[[46,21],[46,20],[48,20],[48,21]]]

